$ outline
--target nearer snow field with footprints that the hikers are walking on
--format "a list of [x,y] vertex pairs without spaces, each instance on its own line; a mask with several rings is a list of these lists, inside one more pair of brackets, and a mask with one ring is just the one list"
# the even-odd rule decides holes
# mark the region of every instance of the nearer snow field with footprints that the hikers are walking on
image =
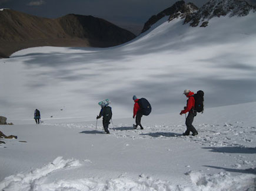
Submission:
[[[42,154],[39,158],[44,157],[44,161],[52,158],[54,156],[52,154],[56,151],[57,157],[47,165],[39,165],[42,162],[34,165],[42,166],[41,168],[32,168],[29,172],[21,170],[24,173],[4,178],[0,188],[4,190],[254,190],[256,128],[252,126],[255,120],[248,120],[250,115],[247,115],[247,111],[249,109],[254,115],[256,110],[251,108],[255,108],[255,104],[205,110],[204,114],[195,117],[194,125],[199,132],[197,137],[181,136],[185,130],[185,125],[182,125],[184,117],[175,118],[178,114],[142,117],[144,130],[132,129],[129,125],[134,121],[132,119],[113,119],[114,126],[109,125],[110,135],[103,132],[101,120],[98,121],[97,128],[92,121],[51,123],[52,120],[45,120],[41,125],[29,125],[31,127],[28,129],[34,134],[33,137],[51,132],[47,143],[44,142],[44,138],[34,139],[25,135],[25,132],[29,131],[23,132],[23,126],[28,125],[14,125],[13,129],[8,127],[5,131],[8,129],[10,132],[14,129],[16,132],[22,131],[23,134],[18,135],[18,138],[23,137],[28,142],[25,146],[24,143],[18,143],[19,139],[6,140],[7,148],[25,149],[23,152],[29,153],[38,149],[38,154]],[[235,118],[234,116],[237,115],[239,117]],[[211,118],[212,116],[214,118]],[[218,123],[215,117],[219,119]],[[150,125],[154,124],[153,121],[158,125]],[[71,142],[67,142],[67,139]],[[2,151],[7,156],[13,155],[6,150]],[[50,153],[51,156],[45,156]],[[22,162],[24,166],[31,166],[29,161],[31,158],[34,161],[33,158],[38,154],[31,153],[27,158],[21,157],[21,154],[15,155],[17,158],[23,158],[22,161],[25,160]],[[58,156],[63,154],[65,158],[76,156],[76,159],[64,159]],[[16,162],[11,163],[16,168],[20,168],[15,164]],[[19,189],[21,187],[22,189]]]

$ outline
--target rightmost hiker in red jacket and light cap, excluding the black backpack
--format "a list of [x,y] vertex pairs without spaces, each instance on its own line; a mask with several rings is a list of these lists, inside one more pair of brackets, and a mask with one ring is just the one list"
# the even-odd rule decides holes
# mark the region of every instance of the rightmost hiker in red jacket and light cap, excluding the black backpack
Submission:
[[189,132],[192,132],[192,135],[198,135],[197,129],[192,125],[192,122],[194,120],[194,117],[197,115],[197,111],[194,110],[195,108],[195,98],[193,97],[194,92],[190,90],[184,90],[185,96],[188,97],[187,100],[187,106],[184,107],[184,110],[182,110],[179,115],[185,114],[188,112],[188,117],[186,118],[186,125],[187,125],[187,131],[183,135],[189,135]]

